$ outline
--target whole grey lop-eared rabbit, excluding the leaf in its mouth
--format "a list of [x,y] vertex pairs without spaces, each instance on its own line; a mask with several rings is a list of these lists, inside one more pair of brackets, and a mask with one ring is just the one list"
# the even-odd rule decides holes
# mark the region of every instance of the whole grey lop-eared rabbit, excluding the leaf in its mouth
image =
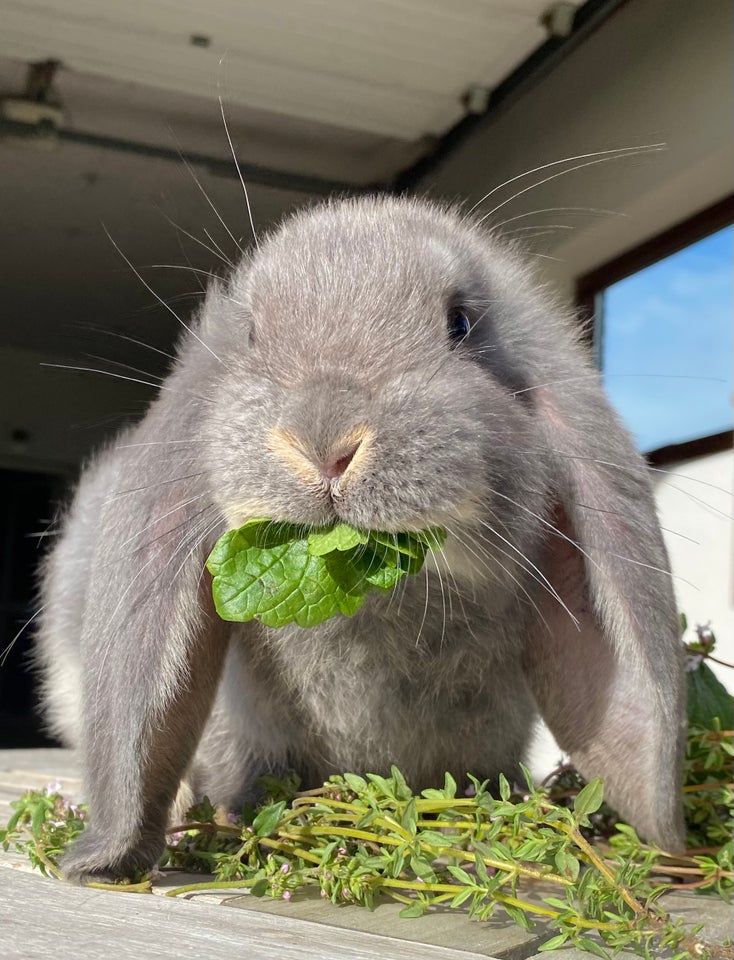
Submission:
[[[256,517],[447,539],[352,617],[226,623],[205,561]],[[73,881],[152,867],[172,811],[236,809],[268,771],[512,777],[538,716],[682,847],[682,649],[646,465],[578,321],[456,207],[324,202],[215,280],[146,416],[83,473],[41,599],[46,716],[90,804]]]

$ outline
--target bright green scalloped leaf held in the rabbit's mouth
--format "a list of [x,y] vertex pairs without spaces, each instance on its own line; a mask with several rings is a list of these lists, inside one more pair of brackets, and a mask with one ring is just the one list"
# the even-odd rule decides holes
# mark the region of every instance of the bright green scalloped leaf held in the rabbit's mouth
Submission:
[[229,530],[206,562],[223,620],[259,620],[268,627],[314,627],[337,614],[353,616],[372,590],[391,590],[418,573],[446,532],[358,530],[345,523],[306,527],[267,518]]

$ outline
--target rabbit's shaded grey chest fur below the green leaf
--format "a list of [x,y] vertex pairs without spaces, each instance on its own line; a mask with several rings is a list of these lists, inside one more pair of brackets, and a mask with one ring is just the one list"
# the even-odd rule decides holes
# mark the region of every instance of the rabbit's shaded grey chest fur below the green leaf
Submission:
[[430,574],[371,596],[351,619],[233,639],[247,675],[267,676],[261,710],[283,730],[289,763],[317,780],[396,763],[417,787],[516,762],[534,718],[517,668],[525,619],[520,603],[512,618],[488,618],[471,591],[449,593]]

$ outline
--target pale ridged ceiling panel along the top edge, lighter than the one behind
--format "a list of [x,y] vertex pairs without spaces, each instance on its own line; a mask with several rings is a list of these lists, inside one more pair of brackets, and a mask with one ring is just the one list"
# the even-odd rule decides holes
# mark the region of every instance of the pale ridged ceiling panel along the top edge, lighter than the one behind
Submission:
[[[463,114],[545,37],[547,0],[4,0],[0,56],[402,140]],[[191,36],[210,40],[192,46]]]

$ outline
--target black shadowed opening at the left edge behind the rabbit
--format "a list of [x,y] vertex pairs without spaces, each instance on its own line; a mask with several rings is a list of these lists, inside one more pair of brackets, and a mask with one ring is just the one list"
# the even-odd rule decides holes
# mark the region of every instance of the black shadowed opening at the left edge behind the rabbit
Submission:
[[37,607],[38,564],[52,539],[40,534],[51,525],[64,486],[63,477],[0,470],[0,748],[53,743],[36,708],[33,624],[13,640]]

